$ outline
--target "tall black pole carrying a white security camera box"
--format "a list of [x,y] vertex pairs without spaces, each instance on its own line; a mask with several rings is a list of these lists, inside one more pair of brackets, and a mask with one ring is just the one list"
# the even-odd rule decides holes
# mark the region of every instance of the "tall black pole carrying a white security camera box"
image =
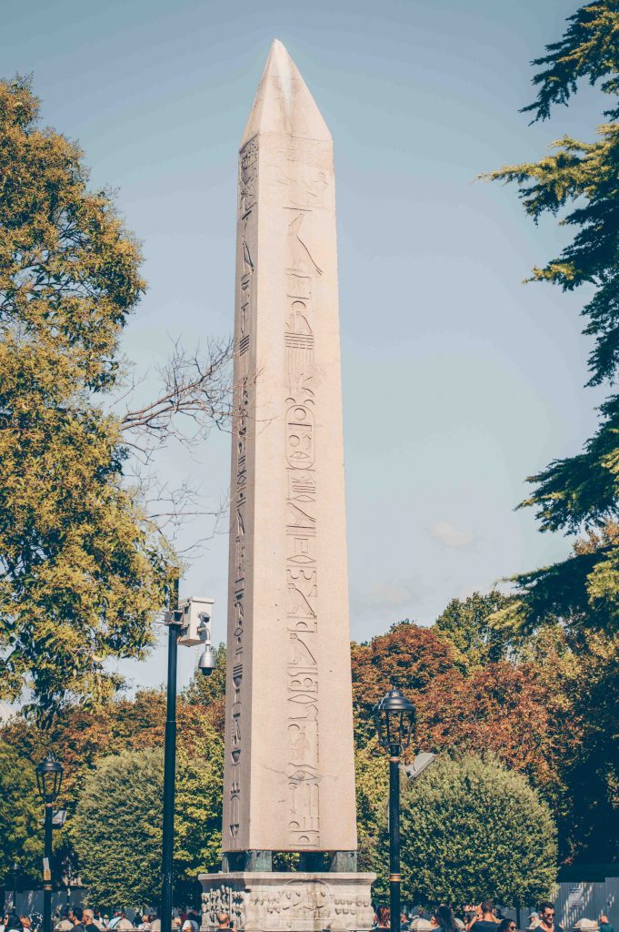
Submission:
[[[205,676],[217,665],[210,645],[210,619],[213,613],[212,598],[179,598],[178,580],[174,586],[178,609],[164,615],[168,626],[168,691],[166,714],[166,742],[163,778],[163,845],[161,853],[161,932],[170,932],[172,925],[172,888],[174,883],[174,803],[176,797],[176,667],[178,646],[202,645],[204,651],[197,668]],[[47,932],[47,930],[44,930]]]

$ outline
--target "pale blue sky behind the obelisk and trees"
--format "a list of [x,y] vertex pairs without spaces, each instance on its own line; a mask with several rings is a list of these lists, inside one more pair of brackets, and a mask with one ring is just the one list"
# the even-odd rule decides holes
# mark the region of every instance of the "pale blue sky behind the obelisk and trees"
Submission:
[[[518,113],[532,99],[528,62],[577,6],[2,2],[2,74],[34,73],[44,122],[82,144],[93,185],[118,188],[143,241],[150,289],[124,341],[143,370],[163,362],[169,336],[231,331],[238,141],[274,37],[300,68],[336,152],[357,639],[404,617],[431,624],[451,597],[569,549],[513,509],[525,476],[576,452],[595,423],[583,295],[522,285],[567,235],[533,226],[515,190],[472,181],[564,132],[593,134],[589,89],[551,124]],[[193,461],[175,452],[159,468],[216,505],[228,459],[229,437],[213,435]],[[216,639],[226,561],[220,534],[182,583],[217,599]],[[194,658],[182,655],[184,683]],[[156,684],[163,651],[121,667]]]

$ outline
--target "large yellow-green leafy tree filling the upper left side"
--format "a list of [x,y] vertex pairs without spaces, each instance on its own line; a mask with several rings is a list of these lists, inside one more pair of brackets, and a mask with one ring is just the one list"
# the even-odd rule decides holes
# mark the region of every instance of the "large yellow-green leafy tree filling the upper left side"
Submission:
[[143,656],[173,561],[100,404],[140,251],[38,108],[27,81],[0,81],[0,688],[47,713],[101,701],[106,659]]

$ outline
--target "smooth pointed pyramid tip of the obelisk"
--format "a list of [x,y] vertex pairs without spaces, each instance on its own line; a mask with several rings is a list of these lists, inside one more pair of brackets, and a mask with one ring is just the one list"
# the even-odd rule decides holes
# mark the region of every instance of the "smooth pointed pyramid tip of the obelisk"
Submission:
[[329,141],[330,131],[287,48],[274,39],[241,148],[257,132]]

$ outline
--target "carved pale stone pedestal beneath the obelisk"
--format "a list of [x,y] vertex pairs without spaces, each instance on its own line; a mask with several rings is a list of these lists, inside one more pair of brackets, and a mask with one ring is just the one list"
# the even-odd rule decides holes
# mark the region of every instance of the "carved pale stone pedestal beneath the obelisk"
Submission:
[[200,874],[202,930],[228,912],[235,932],[368,932],[373,873],[237,871]]

